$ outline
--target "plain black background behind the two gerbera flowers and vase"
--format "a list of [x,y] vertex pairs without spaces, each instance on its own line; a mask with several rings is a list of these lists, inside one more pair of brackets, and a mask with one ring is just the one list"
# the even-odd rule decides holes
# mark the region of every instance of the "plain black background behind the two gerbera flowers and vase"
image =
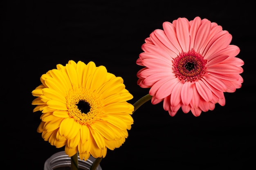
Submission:
[[1,155],[6,169],[43,170],[45,160],[64,150],[36,129],[31,91],[40,76],[68,60],[104,65],[121,76],[134,103],[149,89],[137,85],[136,65],[144,39],[164,21],[196,16],[221,25],[240,48],[242,87],[225,93],[226,105],[194,117],[171,117],[150,102],[133,115],[126,142],[101,161],[103,170],[249,169],[255,162],[255,9],[235,1],[3,1],[1,12]]

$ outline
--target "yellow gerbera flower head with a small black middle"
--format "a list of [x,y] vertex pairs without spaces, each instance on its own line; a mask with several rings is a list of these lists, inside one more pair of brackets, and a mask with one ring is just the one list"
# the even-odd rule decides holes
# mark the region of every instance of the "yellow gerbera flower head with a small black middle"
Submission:
[[70,60],[66,66],[40,77],[41,85],[32,95],[37,98],[34,112],[41,111],[38,132],[45,141],[61,148],[70,157],[105,157],[107,148],[120,147],[133,124],[132,95],[121,77],[104,66]]

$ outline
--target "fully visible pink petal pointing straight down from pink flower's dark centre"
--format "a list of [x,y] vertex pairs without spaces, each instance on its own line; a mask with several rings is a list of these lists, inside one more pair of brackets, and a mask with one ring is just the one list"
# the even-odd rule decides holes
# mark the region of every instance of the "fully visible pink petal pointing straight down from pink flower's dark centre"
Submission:
[[192,84],[186,81],[182,86],[181,90],[181,100],[184,105],[189,105],[193,96]]

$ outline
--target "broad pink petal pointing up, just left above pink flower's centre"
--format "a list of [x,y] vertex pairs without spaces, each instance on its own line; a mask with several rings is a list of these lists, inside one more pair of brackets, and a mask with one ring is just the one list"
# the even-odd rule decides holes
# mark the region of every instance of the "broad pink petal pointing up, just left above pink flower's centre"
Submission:
[[182,51],[189,51],[190,37],[189,37],[189,21],[186,18],[177,19],[176,33],[177,38],[182,48]]

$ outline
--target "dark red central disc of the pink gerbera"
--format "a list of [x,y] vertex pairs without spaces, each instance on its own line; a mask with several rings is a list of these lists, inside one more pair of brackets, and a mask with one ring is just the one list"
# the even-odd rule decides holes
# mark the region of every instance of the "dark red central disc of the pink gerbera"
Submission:
[[173,72],[183,81],[194,81],[201,78],[206,70],[207,60],[194,50],[181,53],[173,60]]

